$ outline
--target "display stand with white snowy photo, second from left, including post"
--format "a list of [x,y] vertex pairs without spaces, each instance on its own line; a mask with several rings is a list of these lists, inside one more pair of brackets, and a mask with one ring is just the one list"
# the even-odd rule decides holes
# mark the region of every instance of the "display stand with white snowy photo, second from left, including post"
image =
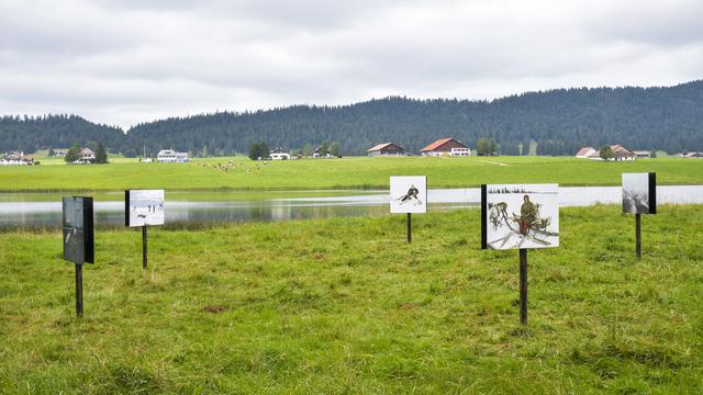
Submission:
[[142,268],[146,270],[146,229],[149,225],[164,225],[164,190],[124,191],[124,225],[142,228]]

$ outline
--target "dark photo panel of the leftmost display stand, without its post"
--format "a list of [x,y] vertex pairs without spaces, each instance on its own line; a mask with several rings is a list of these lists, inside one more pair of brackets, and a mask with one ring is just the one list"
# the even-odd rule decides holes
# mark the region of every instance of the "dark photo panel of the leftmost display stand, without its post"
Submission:
[[92,198],[64,198],[64,259],[93,262]]

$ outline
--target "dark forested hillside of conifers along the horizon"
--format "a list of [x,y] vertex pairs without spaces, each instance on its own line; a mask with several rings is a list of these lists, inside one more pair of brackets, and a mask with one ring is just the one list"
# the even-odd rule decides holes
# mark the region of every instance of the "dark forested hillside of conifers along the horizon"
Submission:
[[193,155],[247,153],[257,142],[300,149],[339,142],[360,155],[395,142],[416,153],[453,136],[470,147],[480,137],[500,154],[573,155],[581,146],[622,144],[667,153],[703,150],[703,81],[670,88],[580,88],[511,95],[494,101],[387,98],[343,106],[294,105],[256,112],[219,112],[136,125],[123,133],[75,115],[0,119],[0,151],[100,142],[126,156],[175,148]]

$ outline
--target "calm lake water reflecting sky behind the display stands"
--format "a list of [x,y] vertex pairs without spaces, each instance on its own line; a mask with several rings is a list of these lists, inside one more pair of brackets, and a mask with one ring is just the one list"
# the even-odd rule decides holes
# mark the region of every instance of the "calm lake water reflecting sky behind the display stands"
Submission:
[[[0,227],[59,227],[63,195],[0,193]],[[124,192],[76,193],[94,198],[96,223],[124,223]],[[429,190],[429,210],[478,207],[480,189]],[[659,204],[703,204],[703,185],[657,187]],[[561,206],[620,204],[620,187],[563,187]],[[388,191],[168,192],[166,222],[270,222],[389,213]]]

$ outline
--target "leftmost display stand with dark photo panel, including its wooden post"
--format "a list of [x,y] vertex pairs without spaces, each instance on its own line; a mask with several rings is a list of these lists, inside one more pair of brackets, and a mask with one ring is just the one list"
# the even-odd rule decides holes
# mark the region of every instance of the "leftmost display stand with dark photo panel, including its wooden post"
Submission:
[[64,259],[76,264],[76,316],[83,316],[83,263],[94,263],[92,198],[64,198]]

